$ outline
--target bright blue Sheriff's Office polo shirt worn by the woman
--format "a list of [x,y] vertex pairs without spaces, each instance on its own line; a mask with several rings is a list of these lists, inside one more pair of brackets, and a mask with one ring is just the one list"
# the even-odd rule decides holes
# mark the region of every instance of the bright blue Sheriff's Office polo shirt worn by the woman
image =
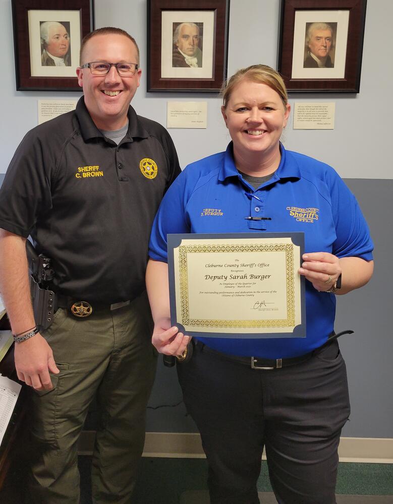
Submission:
[[[233,145],[188,165],[155,217],[149,255],[167,262],[170,233],[304,232],[305,251],[372,260],[373,243],[359,205],[333,168],[280,145],[281,162],[257,190],[243,179]],[[246,193],[254,193],[250,198]],[[251,221],[245,217],[270,217]],[[322,345],[333,330],[335,296],[306,280],[306,338],[198,338],[233,355],[294,357]]]

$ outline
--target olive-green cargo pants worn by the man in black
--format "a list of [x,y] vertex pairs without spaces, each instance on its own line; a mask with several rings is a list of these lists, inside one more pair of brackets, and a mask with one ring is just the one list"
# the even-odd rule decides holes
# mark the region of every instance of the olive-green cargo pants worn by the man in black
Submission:
[[61,370],[49,392],[30,391],[36,445],[28,502],[79,504],[77,441],[97,394],[102,412],[92,464],[93,502],[130,504],[145,439],[156,353],[146,293],[117,310],[76,319],[60,308],[43,334]]

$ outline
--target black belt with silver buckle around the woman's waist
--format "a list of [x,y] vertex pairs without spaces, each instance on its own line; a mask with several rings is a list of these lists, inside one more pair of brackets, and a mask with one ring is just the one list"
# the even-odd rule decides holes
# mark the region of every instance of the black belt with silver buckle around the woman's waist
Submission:
[[280,369],[286,366],[293,366],[295,364],[305,362],[306,360],[310,359],[313,356],[315,351],[320,350],[321,348],[327,345],[330,345],[332,341],[336,340],[343,334],[352,334],[352,333],[353,331],[351,330],[342,331],[341,333],[338,334],[335,334],[335,332],[332,331],[329,334],[327,341],[320,347],[315,348],[311,352],[299,355],[297,357],[288,357],[283,359],[266,359],[264,357],[242,357],[240,355],[229,355],[226,353],[219,352],[218,350],[209,348],[200,341],[197,341],[195,346],[200,350],[202,350],[203,352],[215,355],[217,358],[221,360],[230,360],[232,362],[238,362],[239,364],[245,364],[247,366],[250,366],[252,369],[271,370],[271,369]]

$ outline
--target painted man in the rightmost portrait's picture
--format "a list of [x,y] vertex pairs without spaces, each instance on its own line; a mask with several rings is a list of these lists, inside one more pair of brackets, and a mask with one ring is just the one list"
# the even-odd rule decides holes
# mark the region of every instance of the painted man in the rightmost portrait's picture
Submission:
[[332,28],[326,23],[311,23],[307,30],[307,57],[303,68],[333,68],[329,52],[332,46]]

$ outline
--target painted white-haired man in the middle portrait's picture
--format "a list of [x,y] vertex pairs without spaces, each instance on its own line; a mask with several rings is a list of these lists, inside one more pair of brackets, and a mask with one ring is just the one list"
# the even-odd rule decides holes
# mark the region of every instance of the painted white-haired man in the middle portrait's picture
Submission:
[[202,67],[202,51],[198,47],[199,27],[195,23],[181,23],[173,36],[172,67]]

